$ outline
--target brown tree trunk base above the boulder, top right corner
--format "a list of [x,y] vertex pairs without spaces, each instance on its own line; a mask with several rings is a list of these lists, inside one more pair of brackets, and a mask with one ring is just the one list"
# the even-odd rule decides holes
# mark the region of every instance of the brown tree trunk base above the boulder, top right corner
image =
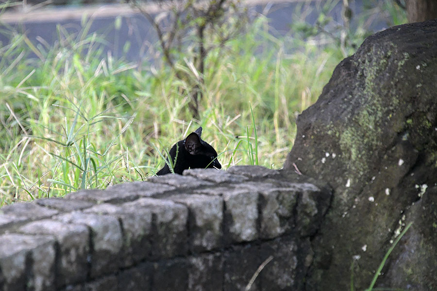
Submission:
[[420,22],[437,18],[436,0],[406,0],[408,22]]

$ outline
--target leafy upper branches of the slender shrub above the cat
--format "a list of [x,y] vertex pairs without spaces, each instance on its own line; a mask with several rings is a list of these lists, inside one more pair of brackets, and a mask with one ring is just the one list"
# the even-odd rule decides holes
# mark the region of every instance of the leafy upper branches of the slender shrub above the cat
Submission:
[[[241,31],[241,23],[244,22],[229,23],[229,17],[238,15],[235,13],[238,0],[158,0],[168,11],[165,17],[159,19],[145,11],[139,0],[131,0],[131,2],[156,31],[164,60],[173,70],[176,78],[187,83],[187,87],[181,88],[182,93],[190,97],[190,110],[195,118],[199,118],[199,101],[204,92],[202,89],[207,56],[212,49],[223,48],[230,39],[234,38],[237,32]],[[184,46],[187,36],[194,36],[195,39],[193,42],[190,38],[188,45]],[[197,73],[194,74],[195,78],[190,72],[180,69],[178,64],[182,60],[179,59],[179,54],[173,53],[184,52],[184,49],[189,52],[185,54],[185,58],[187,55],[190,58],[185,60],[185,63],[192,65],[190,70]],[[191,52],[194,52],[194,55],[190,55]]]

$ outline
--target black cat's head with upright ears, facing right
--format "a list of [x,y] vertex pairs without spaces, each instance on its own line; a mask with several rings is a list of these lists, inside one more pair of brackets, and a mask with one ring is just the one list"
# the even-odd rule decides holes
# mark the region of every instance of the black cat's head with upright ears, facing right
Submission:
[[217,152],[214,147],[201,139],[202,127],[188,134],[185,138],[185,150],[193,156],[196,156],[196,165],[199,168],[217,168],[221,169],[221,164],[217,160]]

